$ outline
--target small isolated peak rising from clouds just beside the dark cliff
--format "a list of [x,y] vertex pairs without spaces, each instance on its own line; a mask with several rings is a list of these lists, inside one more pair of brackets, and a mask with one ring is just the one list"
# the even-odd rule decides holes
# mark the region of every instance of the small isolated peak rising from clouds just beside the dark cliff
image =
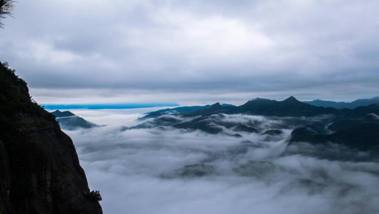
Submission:
[[74,115],[72,112],[64,111],[61,112],[56,110],[51,112],[56,117],[60,127],[65,130],[76,130],[76,129],[89,129],[93,127],[99,127],[98,125],[88,122],[79,116]]

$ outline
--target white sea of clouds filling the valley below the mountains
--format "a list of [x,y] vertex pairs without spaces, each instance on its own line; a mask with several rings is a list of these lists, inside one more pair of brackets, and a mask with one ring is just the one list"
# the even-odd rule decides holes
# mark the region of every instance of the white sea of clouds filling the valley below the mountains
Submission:
[[[277,137],[236,138],[122,128],[141,123],[136,119],[142,112],[148,110],[77,110],[73,113],[107,126],[65,131],[90,188],[101,191],[104,213],[379,213],[376,161],[307,155],[311,145],[291,146],[289,152],[290,129]],[[267,129],[285,123],[244,115],[222,120]]]

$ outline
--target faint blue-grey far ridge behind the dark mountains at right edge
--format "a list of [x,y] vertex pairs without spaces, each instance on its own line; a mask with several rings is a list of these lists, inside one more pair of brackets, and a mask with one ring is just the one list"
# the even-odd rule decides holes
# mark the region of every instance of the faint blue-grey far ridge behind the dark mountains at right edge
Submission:
[[335,102],[335,101],[326,101],[326,100],[321,100],[321,99],[316,99],[313,101],[304,101],[304,102],[311,105],[331,107],[335,109],[344,109],[344,108],[354,109],[362,105],[378,104],[379,96],[372,97],[370,99],[357,99],[352,102]]

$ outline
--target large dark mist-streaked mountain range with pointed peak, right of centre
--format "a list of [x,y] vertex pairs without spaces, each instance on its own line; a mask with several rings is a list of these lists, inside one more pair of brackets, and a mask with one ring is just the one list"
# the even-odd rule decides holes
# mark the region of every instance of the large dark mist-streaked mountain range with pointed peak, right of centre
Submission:
[[[356,101],[354,103],[367,103]],[[226,115],[258,115],[280,118],[284,124],[279,129],[293,129],[290,145],[301,142],[326,144],[334,142],[362,151],[379,152],[379,104],[358,106],[354,109],[335,109],[301,102],[295,97],[277,101],[255,98],[239,106],[215,103],[206,106],[185,106],[147,113],[142,124],[127,129],[153,128],[162,130],[173,127],[185,130],[201,130],[209,134],[232,130],[239,133],[280,135],[279,129],[259,130],[254,124],[225,121]],[[313,119],[312,119],[313,118]],[[151,120],[153,119],[153,120]]]

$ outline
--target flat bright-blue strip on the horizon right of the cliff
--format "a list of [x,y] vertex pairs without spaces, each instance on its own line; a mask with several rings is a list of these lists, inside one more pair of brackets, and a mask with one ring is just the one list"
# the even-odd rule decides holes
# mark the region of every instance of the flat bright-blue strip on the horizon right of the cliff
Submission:
[[117,103],[117,104],[42,104],[44,109],[138,109],[152,108],[161,106],[178,106],[174,102],[159,102],[159,103]]

